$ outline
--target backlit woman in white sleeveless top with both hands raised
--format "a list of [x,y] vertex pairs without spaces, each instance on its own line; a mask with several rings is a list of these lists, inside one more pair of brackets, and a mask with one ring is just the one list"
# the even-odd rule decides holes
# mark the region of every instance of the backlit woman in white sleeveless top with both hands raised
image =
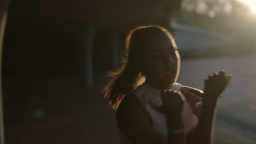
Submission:
[[118,109],[122,143],[211,143],[217,99],[231,76],[224,70],[209,75],[204,92],[177,83],[177,46],[160,26],[130,31],[125,54],[104,88],[109,105]]

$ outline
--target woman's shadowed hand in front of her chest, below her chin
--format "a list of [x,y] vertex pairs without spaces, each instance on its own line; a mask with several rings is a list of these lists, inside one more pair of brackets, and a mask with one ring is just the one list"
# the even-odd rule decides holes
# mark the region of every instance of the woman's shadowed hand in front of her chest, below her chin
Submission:
[[181,92],[161,92],[162,105],[156,106],[149,101],[149,104],[156,111],[166,115],[167,126],[169,129],[181,129],[183,128],[182,110],[184,95]]

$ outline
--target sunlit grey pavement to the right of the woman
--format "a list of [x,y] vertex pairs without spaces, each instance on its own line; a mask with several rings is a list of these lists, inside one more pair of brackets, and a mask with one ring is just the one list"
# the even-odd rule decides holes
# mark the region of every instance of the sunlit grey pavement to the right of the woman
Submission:
[[214,143],[256,143],[255,62],[255,55],[182,61],[178,82],[183,85],[203,89],[209,74],[234,75],[219,99]]

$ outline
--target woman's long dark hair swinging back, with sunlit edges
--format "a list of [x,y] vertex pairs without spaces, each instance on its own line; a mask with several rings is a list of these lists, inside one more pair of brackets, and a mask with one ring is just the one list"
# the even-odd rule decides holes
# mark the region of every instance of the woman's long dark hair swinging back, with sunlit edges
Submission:
[[134,91],[145,80],[145,76],[138,70],[138,63],[141,62],[142,48],[147,35],[156,32],[165,33],[171,41],[174,41],[171,33],[161,26],[150,25],[132,29],[125,39],[125,57],[123,63],[117,71],[112,71],[107,76],[113,77],[104,87],[104,98],[108,104],[117,109],[125,95]]

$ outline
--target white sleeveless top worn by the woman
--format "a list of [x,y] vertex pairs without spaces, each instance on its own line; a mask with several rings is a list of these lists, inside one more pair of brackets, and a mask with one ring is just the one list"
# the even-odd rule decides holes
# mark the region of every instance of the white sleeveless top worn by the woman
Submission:
[[[180,91],[181,83],[174,82],[171,90]],[[153,88],[149,86],[146,82],[144,82],[141,86],[139,86],[135,91],[132,92],[139,99],[141,105],[144,110],[148,113],[150,118],[152,119],[152,127],[163,139],[166,139],[168,136],[167,122],[166,116],[149,105],[148,101],[151,103],[160,106],[162,105],[161,100],[161,91],[159,89]],[[196,127],[198,123],[197,117],[193,114],[193,110],[187,101],[184,101],[183,110],[182,110],[182,119],[184,124],[184,134],[188,135],[189,131]],[[122,144],[131,144],[132,142],[129,138],[119,130],[121,143]]]

